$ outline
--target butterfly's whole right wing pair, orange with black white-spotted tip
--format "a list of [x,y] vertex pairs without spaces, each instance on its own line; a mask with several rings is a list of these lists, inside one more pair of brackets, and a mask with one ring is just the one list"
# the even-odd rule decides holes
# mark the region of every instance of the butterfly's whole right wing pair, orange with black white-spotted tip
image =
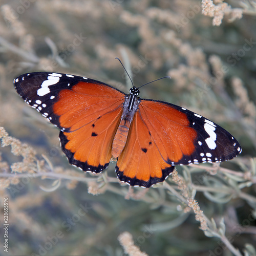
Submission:
[[219,125],[180,106],[142,99],[116,173],[130,185],[150,187],[174,165],[221,162],[239,153],[238,141]]

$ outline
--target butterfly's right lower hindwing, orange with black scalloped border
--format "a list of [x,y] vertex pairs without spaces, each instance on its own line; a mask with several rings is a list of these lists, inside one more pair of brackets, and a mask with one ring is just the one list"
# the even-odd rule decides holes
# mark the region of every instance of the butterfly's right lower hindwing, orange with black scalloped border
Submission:
[[116,164],[118,178],[131,185],[149,187],[163,181],[173,170],[174,166],[164,161],[142,116],[136,112]]

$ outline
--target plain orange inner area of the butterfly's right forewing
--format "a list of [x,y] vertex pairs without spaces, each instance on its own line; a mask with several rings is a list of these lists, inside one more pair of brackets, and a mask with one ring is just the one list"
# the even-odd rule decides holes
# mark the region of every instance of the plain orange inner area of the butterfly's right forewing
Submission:
[[165,162],[177,163],[195,152],[197,132],[184,113],[150,100],[141,101],[139,112]]

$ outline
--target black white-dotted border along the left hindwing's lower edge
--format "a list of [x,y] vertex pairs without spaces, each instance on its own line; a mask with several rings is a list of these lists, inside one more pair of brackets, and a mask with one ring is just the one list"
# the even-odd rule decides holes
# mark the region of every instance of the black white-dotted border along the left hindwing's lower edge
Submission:
[[59,140],[60,140],[60,144],[61,144],[61,149],[62,151],[65,153],[65,155],[67,156],[69,163],[73,166],[78,167],[79,169],[83,170],[83,172],[91,172],[91,173],[101,173],[104,169],[108,168],[109,163],[105,163],[104,165],[90,165],[86,162],[81,162],[79,160],[76,160],[74,158],[74,153],[72,153],[71,151],[67,150],[67,148],[65,147],[65,145],[68,143],[68,139],[65,136],[65,134],[60,131],[59,133]]

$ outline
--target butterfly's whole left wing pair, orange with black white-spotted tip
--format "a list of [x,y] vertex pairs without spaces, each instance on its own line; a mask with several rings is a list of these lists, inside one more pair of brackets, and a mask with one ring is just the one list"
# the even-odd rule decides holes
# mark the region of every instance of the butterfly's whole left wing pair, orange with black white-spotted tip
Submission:
[[95,173],[108,167],[122,112],[122,92],[86,77],[45,72],[19,76],[14,86],[61,130],[61,147],[71,164]]

